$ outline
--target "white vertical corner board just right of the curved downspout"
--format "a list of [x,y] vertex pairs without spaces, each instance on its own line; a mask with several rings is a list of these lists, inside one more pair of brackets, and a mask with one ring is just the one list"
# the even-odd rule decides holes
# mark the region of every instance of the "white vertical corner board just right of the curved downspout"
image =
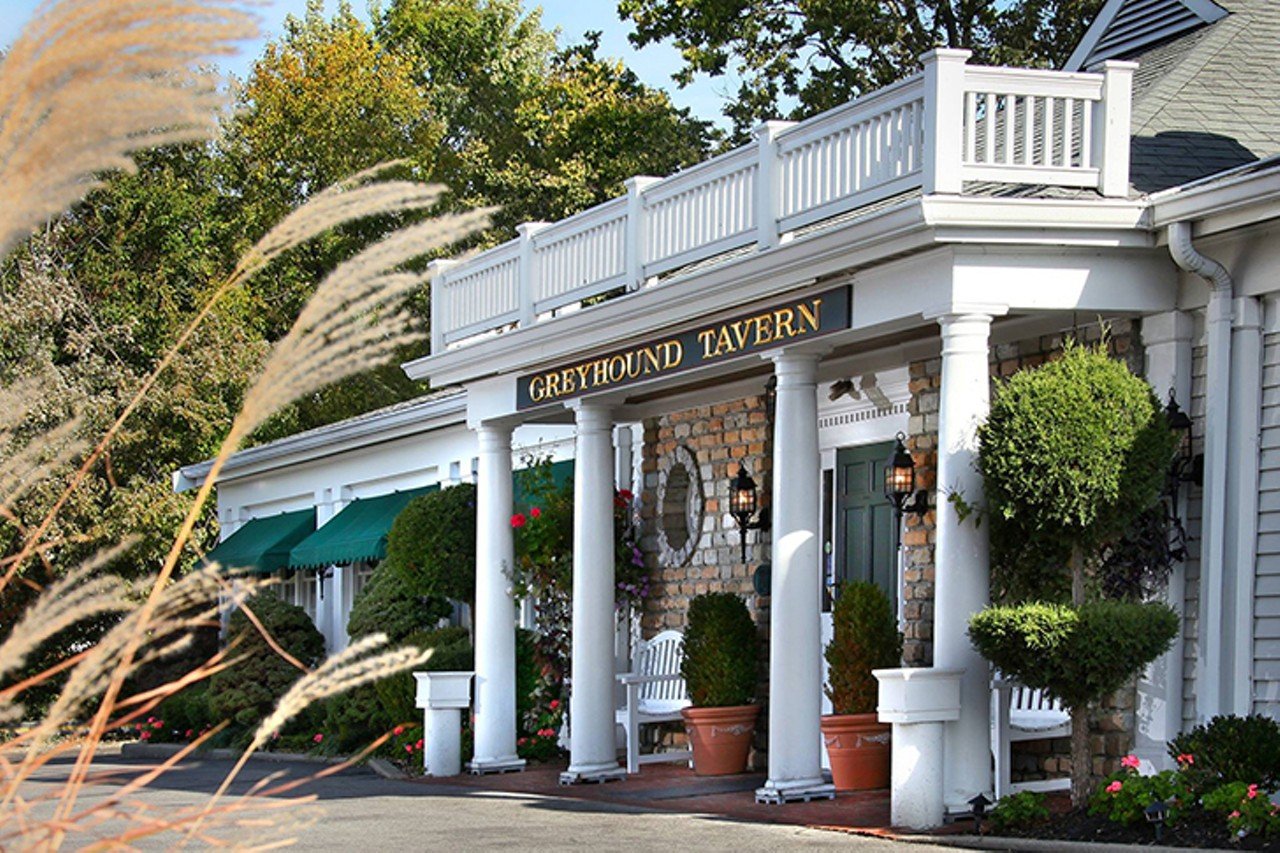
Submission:
[[1222,711],[1253,712],[1253,587],[1258,549],[1258,478],[1262,452],[1262,304],[1238,297],[1231,323],[1231,393],[1226,484],[1229,672]]

